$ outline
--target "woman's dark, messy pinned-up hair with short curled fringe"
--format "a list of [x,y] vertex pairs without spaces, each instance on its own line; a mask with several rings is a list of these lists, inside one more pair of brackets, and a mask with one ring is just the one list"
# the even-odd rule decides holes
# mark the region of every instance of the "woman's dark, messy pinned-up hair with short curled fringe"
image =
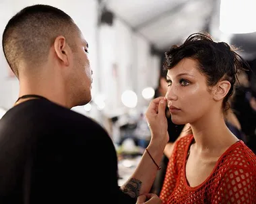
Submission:
[[249,64],[230,48],[225,42],[214,42],[210,35],[191,34],[181,46],[172,46],[165,53],[164,70],[169,70],[183,58],[197,60],[198,70],[207,79],[207,85],[213,87],[220,80],[227,80],[231,87],[223,100],[223,109],[226,111],[230,105],[228,99],[234,92],[236,74],[240,70],[248,70]]

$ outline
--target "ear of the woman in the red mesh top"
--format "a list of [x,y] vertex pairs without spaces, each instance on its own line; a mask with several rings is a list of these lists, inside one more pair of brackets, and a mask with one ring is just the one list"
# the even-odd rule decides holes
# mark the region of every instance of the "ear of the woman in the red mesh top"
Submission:
[[212,89],[214,100],[220,101],[224,99],[224,97],[226,97],[226,95],[228,94],[230,87],[231,85],[229,81],[218,82],[214,89]]

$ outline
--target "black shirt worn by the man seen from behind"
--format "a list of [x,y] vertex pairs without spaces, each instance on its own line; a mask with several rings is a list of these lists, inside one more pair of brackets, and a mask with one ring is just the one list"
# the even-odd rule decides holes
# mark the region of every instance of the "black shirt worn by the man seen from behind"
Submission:
[[44,99],[0,120],[0,203],[135,203],[119,190],[117,154],[92,119]]

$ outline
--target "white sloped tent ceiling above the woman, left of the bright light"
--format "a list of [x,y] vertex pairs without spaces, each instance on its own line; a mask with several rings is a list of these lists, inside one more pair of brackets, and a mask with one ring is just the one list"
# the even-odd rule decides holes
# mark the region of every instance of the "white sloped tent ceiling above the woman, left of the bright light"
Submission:
[[108,9],[159,50],[205,31],[216,0],[108,0]]

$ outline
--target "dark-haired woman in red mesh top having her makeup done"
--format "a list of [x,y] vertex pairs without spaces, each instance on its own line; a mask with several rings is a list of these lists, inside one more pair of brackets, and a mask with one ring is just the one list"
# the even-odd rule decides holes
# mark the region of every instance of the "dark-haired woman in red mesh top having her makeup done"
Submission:
[[236,72],[244,66],[228,44],[204,34],[192,34],[166,52],[171,118],[190,123],[193,134],[174,146],[163,203],[256,203],[256,156],[224,119]]

